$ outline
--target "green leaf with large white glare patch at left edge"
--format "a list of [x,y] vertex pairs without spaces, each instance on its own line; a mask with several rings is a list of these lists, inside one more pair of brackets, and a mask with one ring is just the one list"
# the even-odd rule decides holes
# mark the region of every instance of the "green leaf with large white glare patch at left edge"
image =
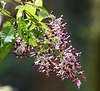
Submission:
[[1,46],[6,43],[13,42],[13,39],[15,39],[15,35],[16,32],[13,26],[2,28],[0,32]]

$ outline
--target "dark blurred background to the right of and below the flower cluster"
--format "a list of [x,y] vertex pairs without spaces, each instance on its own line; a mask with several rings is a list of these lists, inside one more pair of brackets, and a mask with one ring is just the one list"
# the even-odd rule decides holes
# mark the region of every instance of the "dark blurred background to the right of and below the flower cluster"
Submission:
[[[87,81],[82,86],[70,80],[61,82],[55,73],[50,78],[32,67],[33,58],[16,58],[12,52],[0,62],[0,85],[17,91],[100,91],[100,0],[44,0],[44,7],[57,17],[64,15],[66,31],[80,58]],[[6,90],[5,90],[6,91]]]

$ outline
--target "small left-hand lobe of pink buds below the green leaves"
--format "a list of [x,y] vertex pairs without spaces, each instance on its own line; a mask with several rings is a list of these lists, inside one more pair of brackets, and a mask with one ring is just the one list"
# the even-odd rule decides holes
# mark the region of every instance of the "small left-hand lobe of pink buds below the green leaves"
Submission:
[[37,55],[36,51],[40,50],[40,46],[32,46],[22,40],[19,36],[16,37],[15,43],[14,43],[14,51],[13,54],[18,58],[23,58],[23,57],[32,57]]

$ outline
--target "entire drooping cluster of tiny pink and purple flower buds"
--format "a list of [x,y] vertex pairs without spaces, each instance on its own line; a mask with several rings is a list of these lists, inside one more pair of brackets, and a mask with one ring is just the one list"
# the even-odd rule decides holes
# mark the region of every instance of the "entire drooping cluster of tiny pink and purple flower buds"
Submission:
[[[61,81],[71,79],[80,88],[81,81],[78,75],[86,80],[84,71],[78,71],[81,69],[78,57],[82,53],[76,53],[75,48],[72,47],[71,41],[68,40],[71,33],[65,32],[66,25],[63,22],[63,15],[56,20],[49,21],[47,24],[49,33],[45,32],[44,42],[50,41],[50,43],[45,45],[31,46],[21,40],[20,37],[16,37],[14,54],[21,57],[35,56],[32,66],[39,65],[38,72],[45,72],[47,76],[51,72],[56,72],[56,76],[60,77]],[[45,47],[46,50],[41,51]]]

